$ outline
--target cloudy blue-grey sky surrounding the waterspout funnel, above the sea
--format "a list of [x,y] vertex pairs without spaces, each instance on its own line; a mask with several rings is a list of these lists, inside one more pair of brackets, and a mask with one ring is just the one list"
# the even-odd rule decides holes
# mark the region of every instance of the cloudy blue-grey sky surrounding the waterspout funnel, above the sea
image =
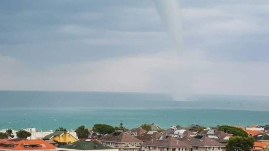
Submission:
[[178,2],[2,0],[0,89],[269,95],[269,1]]

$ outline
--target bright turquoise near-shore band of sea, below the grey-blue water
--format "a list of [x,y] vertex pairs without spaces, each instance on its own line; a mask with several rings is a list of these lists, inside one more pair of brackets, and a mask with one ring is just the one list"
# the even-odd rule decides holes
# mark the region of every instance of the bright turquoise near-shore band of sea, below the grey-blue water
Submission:
[[0,128],[54,130],[57,127],[75,129],[96,123],[118,126],[123,120],[127,128],[155,122],[163,128],[170,125],[253,125],[268,124],[269,111],[210,110],[210,109],[22,109],[1,110]]

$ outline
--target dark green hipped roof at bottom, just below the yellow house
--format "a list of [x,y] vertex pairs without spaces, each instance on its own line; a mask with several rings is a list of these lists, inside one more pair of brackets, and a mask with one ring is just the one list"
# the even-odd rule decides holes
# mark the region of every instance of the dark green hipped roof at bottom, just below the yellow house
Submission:
[[112,147],[102,145],[98,141],[93,141],[93,140],[76,141],[76,142],[71,143],[71,144],[63,145],[59,148],[67,148],[67,149],[74,149],[74,150],[109,150],[109,149],[114,149]]

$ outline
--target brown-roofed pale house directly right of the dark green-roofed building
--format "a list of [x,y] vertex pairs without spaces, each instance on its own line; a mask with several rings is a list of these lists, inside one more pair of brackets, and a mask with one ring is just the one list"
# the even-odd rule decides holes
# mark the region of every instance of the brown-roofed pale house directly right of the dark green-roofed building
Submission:
[[104,135],[99,138],[98,141],[100,141],[103,145],[125,151],[139,151],[141,144],[143,143],[143,141],[135,138],[135,136],[129,135],[128,133],[120,130],[109,135]]

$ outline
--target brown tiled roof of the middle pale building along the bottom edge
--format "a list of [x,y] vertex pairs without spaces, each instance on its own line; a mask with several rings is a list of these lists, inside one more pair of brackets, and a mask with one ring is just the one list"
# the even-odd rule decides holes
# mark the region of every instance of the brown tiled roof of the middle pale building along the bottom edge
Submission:
[[177,138],[169,136],[166,139],[152,139],[152,141],[148,141],[145,143],[150,146],[163,146],[163,147],[191,147],[189,144],[180,141]]

